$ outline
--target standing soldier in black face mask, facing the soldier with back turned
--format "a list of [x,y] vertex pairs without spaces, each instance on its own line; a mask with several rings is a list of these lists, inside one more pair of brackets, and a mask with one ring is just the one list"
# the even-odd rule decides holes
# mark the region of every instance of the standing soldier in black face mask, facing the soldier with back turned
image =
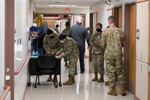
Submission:
[[[102,24],[97,23],[96,32],[92,35],[90,40],[90,45],[93,47],[92,58],[95,75],[92,81],[97,82],[104,82],[104,49],[100,45],[101,34],[102,34]],[[98,73],[101,76],[99,80],[98,80]]]

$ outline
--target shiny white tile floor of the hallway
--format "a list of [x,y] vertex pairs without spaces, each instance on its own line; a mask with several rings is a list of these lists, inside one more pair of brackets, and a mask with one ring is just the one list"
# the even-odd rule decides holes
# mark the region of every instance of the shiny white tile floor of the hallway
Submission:
[[[37,88],[27,87],[25,100],[134,100],[134,96],[108,96],[109,88],[103,83],[92,82],[91,64],[86,62],[86,72],[76,76],[76,84],[55,88],[52,83],[47,83],[48,76],[41,77],[41,84]],[[62,61],[62,65],[63,61]],[[62,81],[67,79],[67,71],[62,67]]]

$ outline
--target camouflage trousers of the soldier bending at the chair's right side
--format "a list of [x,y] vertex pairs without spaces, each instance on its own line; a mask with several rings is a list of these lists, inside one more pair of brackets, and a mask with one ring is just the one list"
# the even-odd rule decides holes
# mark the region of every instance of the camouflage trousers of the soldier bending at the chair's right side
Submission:
[[67,59],[67,67],[68,67],[68,73],[69,75],[74,76],[76,69],[77,69],[77,61],[78,61],[78,55],[68,57]]

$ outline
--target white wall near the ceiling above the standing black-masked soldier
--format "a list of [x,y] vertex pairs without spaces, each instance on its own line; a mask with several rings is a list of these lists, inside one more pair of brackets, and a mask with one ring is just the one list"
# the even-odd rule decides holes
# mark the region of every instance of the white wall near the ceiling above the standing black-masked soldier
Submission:
[[93,5],[90,8],[90,12],[97,12],[98,14],[98,22],[103,24],[103,29],[105,29],[108,26],[108,17],[112,15],[112,10],[108,10],[111,7],[106,5],[104,2],[101,2],[99,4]]

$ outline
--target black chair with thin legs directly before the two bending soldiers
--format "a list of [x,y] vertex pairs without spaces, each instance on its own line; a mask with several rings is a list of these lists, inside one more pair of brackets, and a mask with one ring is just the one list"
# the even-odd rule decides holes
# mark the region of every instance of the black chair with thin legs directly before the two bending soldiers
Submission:
[[61,59],[50,55],[39,56],[37,60],[35,88],[37,87],[37,83],[40,84],[41,75],[54,75],[53,82],[56,88],[58,87],[57,75],[59,75],[59,86],[61,87]]

